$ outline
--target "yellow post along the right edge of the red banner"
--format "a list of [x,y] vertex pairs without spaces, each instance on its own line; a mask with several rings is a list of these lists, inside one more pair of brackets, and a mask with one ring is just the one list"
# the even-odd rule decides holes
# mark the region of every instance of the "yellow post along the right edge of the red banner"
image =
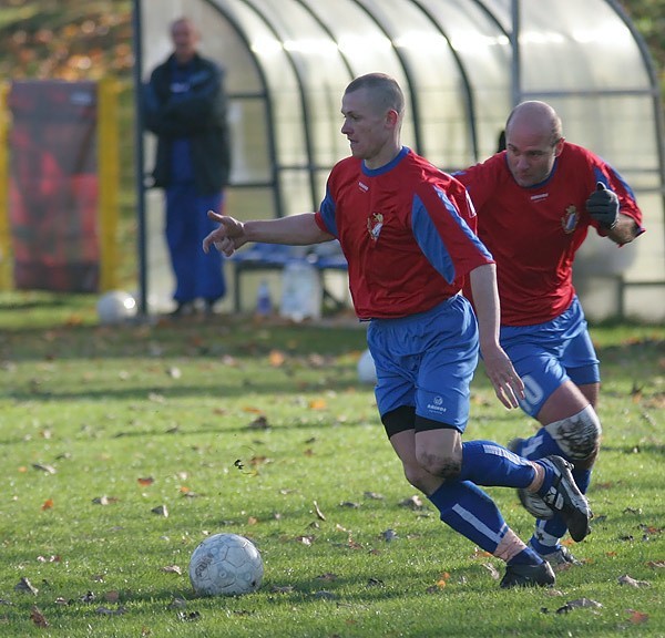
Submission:
[[99,235],[101,249],[100,290],[117,287],[117,217],[120,191],[120,152],[115,79],[105,78],[98,85],[98,171],[100,179]]

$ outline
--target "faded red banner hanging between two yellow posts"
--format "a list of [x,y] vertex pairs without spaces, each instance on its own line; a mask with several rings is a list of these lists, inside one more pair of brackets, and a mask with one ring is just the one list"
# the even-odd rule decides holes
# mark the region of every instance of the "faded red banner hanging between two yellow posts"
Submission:
[[9,220],[18,289],[95,292],[98,92],[93,82],[14,82]]

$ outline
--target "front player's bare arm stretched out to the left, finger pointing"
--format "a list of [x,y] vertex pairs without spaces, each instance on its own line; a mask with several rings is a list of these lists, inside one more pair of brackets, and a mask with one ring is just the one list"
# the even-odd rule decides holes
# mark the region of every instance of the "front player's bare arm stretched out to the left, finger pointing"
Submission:
[[314,213],[290,215],[278,219],[254,219],[239,222],[234,217],[218,215],[212,210],[208,217],[219,223],[203,240],[203,250],[207,253],[211,246],[231,257],[247,241],[263,241],[265,244],[288,244],[291,246],[308,246],[330,241],[335,237],[321,230],[314,218]]

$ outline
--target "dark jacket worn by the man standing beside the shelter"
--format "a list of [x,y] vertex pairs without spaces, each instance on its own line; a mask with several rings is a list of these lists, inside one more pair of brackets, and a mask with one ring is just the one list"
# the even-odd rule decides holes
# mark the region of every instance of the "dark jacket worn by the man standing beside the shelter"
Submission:
[[153,185],[164,188],[172,184],[173,141],[187,137],[196,189],[201,195],[213,195],[226,186],[231,169],[224,72],[197,54],[192,61],[191,91],[183,99],[171,92],[174,64],[171,55],[156,66],[144,91],[144,124],[157,136]]

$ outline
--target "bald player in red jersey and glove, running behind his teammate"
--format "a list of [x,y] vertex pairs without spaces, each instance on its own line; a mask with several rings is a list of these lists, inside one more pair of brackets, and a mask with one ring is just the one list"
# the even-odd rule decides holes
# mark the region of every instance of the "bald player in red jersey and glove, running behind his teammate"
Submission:
[[[497,261],[500,342],[525,387],[520,401],[541,428],[509,447],[526,459],[551,454],[574,465],[586,493],[598,453],[598,360],[573,287],[573,259],[589,228],[617,245],[642,231],[624,179],[592,152],[566,142],[544,102],[523,102],[505,125],[507,151],[457,173],[478,212],[478,233]],[[520,491],[536,517],[530,541],[551,564],[579,564],[560,539],[565,522]]]

